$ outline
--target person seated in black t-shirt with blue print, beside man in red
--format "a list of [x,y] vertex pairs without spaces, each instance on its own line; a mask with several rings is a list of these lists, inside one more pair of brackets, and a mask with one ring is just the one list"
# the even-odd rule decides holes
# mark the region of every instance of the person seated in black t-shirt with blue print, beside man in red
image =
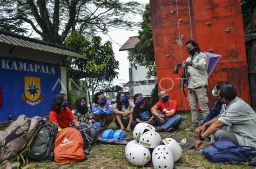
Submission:
[[153,104],[145,102],[145,99],[140,93],[135,94],[133,100],[137,105],[133,108],[132,128],[139,123],[149,123],[152,126],[156,126],[156,120],[151,112]]

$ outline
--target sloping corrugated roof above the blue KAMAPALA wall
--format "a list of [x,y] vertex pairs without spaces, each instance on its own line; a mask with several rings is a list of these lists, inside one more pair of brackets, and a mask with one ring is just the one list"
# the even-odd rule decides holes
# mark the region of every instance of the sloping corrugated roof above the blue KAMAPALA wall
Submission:
[[76,52],[73,52],[71,49],[65,48],[64,46],[51,44],[48,42],[44,42],[43,40],[32,39],[29,37],[17,35],[15,33],[6,32],[3,30],[0,30],[0,43],[20,46],[23,48],[29,48],[29,49],[39,50],[44,52],[51,52],[51,53],[71,56],[75,58],[86,59],[84,56]]

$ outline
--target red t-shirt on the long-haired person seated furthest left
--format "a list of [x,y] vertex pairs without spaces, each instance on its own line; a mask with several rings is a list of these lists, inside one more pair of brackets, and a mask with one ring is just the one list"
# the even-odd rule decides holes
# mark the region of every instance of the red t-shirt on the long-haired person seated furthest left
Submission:
[[58,124],[61,128],[69,127],[69,121],[73,121],[75,119],[75,116],[68,107],[66,107],[63,112],[59,113],[52,110],[49,115],[49,120]]

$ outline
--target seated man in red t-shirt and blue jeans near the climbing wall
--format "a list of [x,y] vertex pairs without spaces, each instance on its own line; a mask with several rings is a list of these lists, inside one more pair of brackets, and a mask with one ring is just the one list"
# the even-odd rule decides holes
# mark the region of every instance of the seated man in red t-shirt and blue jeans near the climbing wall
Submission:
[[160,101],[151,108],[151,112],[159,125],[156,131],[173,132],[178,129],[182,121],[181,116],[177,114],[178,103],[176,100],[170,100],[166,91],[160,91],[158,97]]

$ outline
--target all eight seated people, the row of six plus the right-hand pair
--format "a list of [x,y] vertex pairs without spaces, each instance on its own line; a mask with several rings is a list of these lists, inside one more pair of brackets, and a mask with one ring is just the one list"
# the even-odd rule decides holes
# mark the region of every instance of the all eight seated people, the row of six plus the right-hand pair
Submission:
[[[256,114],[237,96],[234,86],[218,82],[212,95],[217,102],[194,130],[194,133],[199,134],[195,141],[196,150],[207,137],[215,141],[230,140],[237,145],[256,147]],[[115,119],[116,125],[126,131],[131,131],[138,123],[149,123],[158,132],[173,132],[183,121],[177,114],[178,103],[169,99],[166,91],[160,91],[158,96],[159,102],[153,105],[145,102],[141,93],[135,94],[134,102],[131,102],[125,92],[119,92],[116,103],[112,105],[103,92],[97,92],[93,97],[91,111],[86,98],[78,98],[70,110],[66,95],[60,93],[52,102],[49,119],[58,124],[60,129],[70,125],[90,124],[99,131],[101,127],[108,129]]]

